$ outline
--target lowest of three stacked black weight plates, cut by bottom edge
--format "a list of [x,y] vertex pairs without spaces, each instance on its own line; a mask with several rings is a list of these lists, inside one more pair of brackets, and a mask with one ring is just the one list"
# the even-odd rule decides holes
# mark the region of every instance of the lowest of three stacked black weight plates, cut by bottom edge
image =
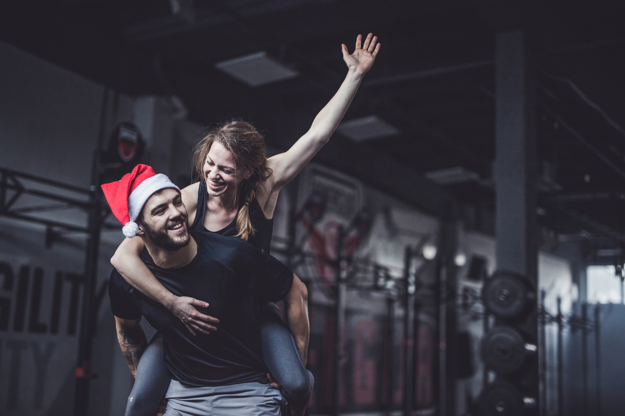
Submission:
[[488,385],[479,397],[481,416],[522,416],[523,396],[513,385],[496,382]]

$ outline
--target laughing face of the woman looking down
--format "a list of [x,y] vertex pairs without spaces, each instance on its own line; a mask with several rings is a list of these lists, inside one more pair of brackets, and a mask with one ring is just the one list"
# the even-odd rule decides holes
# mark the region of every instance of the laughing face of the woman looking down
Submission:
[[236,168],[234,155],[229,150],[219,142],[212,143],[204,161],[204,179],[209,195],[232,193],[242,180],[249,177],[249,173]]

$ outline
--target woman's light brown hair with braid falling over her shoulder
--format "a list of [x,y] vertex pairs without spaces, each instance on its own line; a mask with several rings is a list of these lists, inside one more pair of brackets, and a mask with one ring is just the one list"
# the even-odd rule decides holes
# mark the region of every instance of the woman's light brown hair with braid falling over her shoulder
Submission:
[[232,153],[237,169],[251,172],[249,178],[241,181],[237,195],[243,206],[237,215],[236,236],[247,240],[254,235],[254,227],[249,219],[249,204],[256,198],[259,184],[271,176],[271,169],[266,166],[265,139],[253,125],[243,120],[218,125],[197,143],[193,152],[193,165],[199,178],[204,179],[206,155],[215,142],[221,143]]

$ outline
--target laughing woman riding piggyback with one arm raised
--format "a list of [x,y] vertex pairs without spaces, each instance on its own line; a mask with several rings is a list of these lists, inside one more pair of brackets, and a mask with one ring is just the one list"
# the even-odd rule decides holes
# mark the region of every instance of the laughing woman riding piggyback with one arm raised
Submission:
[[[358,35],[356,49],[351,55],[347,47],[341,45],[343,59],[349,69],[346,79],[336,95],[317,114],[308,132],[287,152],[267,159],[262,135],[241,121],[221,125],[199,143],[194,157],[195,169],[203,180],[182,190],[192,229],[236,235],[257,248],[269,251],[272,218],[280,189],[327,143],[351,104],[362,77],[371,68],[379,52],[380,44],[376,45],[377,37],[371,33],[362,47],[361,42],[362,37]],[[111,263],[129,284],[161,302],[193,334],[195,331],[215,331],[216,327],[209,322],[216,320],[201,314],[194,307],[206,307],[206,302],[174,296],[164,288],[139,258],[138,254],[143,248],[140,238],[126,239]],[[297,346],[293,342],[279,341],[284,340],[284,328],[281,319],[276,316],[275,306],[261,308],[262,343],[263,346],[269,346],[263,347],[267,367],[282,385],[293,413],[303,414],[310,390],[306,387],[311,388],[307,373],[302,371],[303,365],[306,365],[307,341],[299,342]],[[294,352],[296,348],[299,357]],[[146,363],[148,360],[149,365]],[[294,373],[293,369],[299,369],[299,372]],[[145,409],[156,409],[168,384],[162,346],[157,337],[139,363],[126,415],[152,416],[153,413]],[[156,402],[154,397],[157,398]]]

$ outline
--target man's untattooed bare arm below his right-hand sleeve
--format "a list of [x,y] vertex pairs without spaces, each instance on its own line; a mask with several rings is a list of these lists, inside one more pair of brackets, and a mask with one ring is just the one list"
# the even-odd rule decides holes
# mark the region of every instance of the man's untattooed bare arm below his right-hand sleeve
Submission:
[[308,290],[306,285],[293,274],[291,290],[284,298],[286,321],[295,338],[299,355],[306,365],[310,324],[308,322]]

